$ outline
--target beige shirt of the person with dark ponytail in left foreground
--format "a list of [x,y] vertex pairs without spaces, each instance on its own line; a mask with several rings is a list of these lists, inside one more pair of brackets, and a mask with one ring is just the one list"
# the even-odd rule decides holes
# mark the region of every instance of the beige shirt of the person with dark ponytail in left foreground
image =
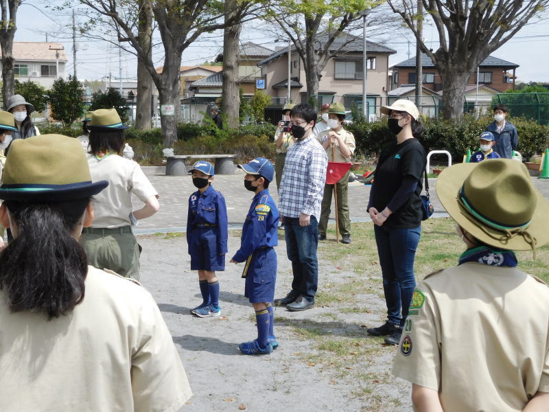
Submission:
[[192,393],[152,296],[92,266],[85,284],[51,321],[0,295],[0,411],[178,411]]

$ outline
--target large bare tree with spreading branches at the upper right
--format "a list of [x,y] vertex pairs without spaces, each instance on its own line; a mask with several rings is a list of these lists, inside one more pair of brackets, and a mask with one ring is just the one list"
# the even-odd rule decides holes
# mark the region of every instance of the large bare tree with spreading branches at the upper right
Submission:
[[[412,30],[423,53],[432,60],[443,84],[443,117],[463,113],[467,80],[478,65],[509,41],[549,0],[420,0],[425,13],[417,14],[417,0],[388,0]],[[418,21],[432,19],[439,33],[435,52],[425,45]]]

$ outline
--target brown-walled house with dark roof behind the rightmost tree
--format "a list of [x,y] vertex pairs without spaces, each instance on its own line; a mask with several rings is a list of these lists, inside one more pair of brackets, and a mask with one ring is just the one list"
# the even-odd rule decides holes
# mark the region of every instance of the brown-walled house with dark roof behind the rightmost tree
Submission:
[[[433,62],[423,54],[423,85],[432,91],[443,89],[439,72],[435,69]],[[482,84],[502,93],[515,89],[515,70],[519,65],[502,60],[497,57],[488,56],[478,65],[478,84]],[[401,87],[402,84],[414,84],[416,82],[416,59],[409,58],[392,67],[393,79],[390,89]],[[477,83],[477,72],[471,74],[467,84]]]

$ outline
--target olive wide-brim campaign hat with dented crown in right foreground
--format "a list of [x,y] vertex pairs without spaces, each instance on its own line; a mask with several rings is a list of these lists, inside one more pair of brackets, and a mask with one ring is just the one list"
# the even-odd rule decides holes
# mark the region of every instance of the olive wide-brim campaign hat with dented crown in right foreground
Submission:
[[500,249],[535,251],[549,242],[549,203],[522,163],[459,163],[436,179],[448,214],[474,238]]

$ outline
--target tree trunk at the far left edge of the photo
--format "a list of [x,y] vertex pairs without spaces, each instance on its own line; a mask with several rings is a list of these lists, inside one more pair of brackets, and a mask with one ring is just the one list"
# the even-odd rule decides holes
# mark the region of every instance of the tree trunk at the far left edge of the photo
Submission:
[[1,0],[2,22],[0,26],[0,47],[2,50],[2,96],[3,104],[13,95],[14,90],[14,65],[13,65],[13,38],[16,26],[17,9],[21,0]]

